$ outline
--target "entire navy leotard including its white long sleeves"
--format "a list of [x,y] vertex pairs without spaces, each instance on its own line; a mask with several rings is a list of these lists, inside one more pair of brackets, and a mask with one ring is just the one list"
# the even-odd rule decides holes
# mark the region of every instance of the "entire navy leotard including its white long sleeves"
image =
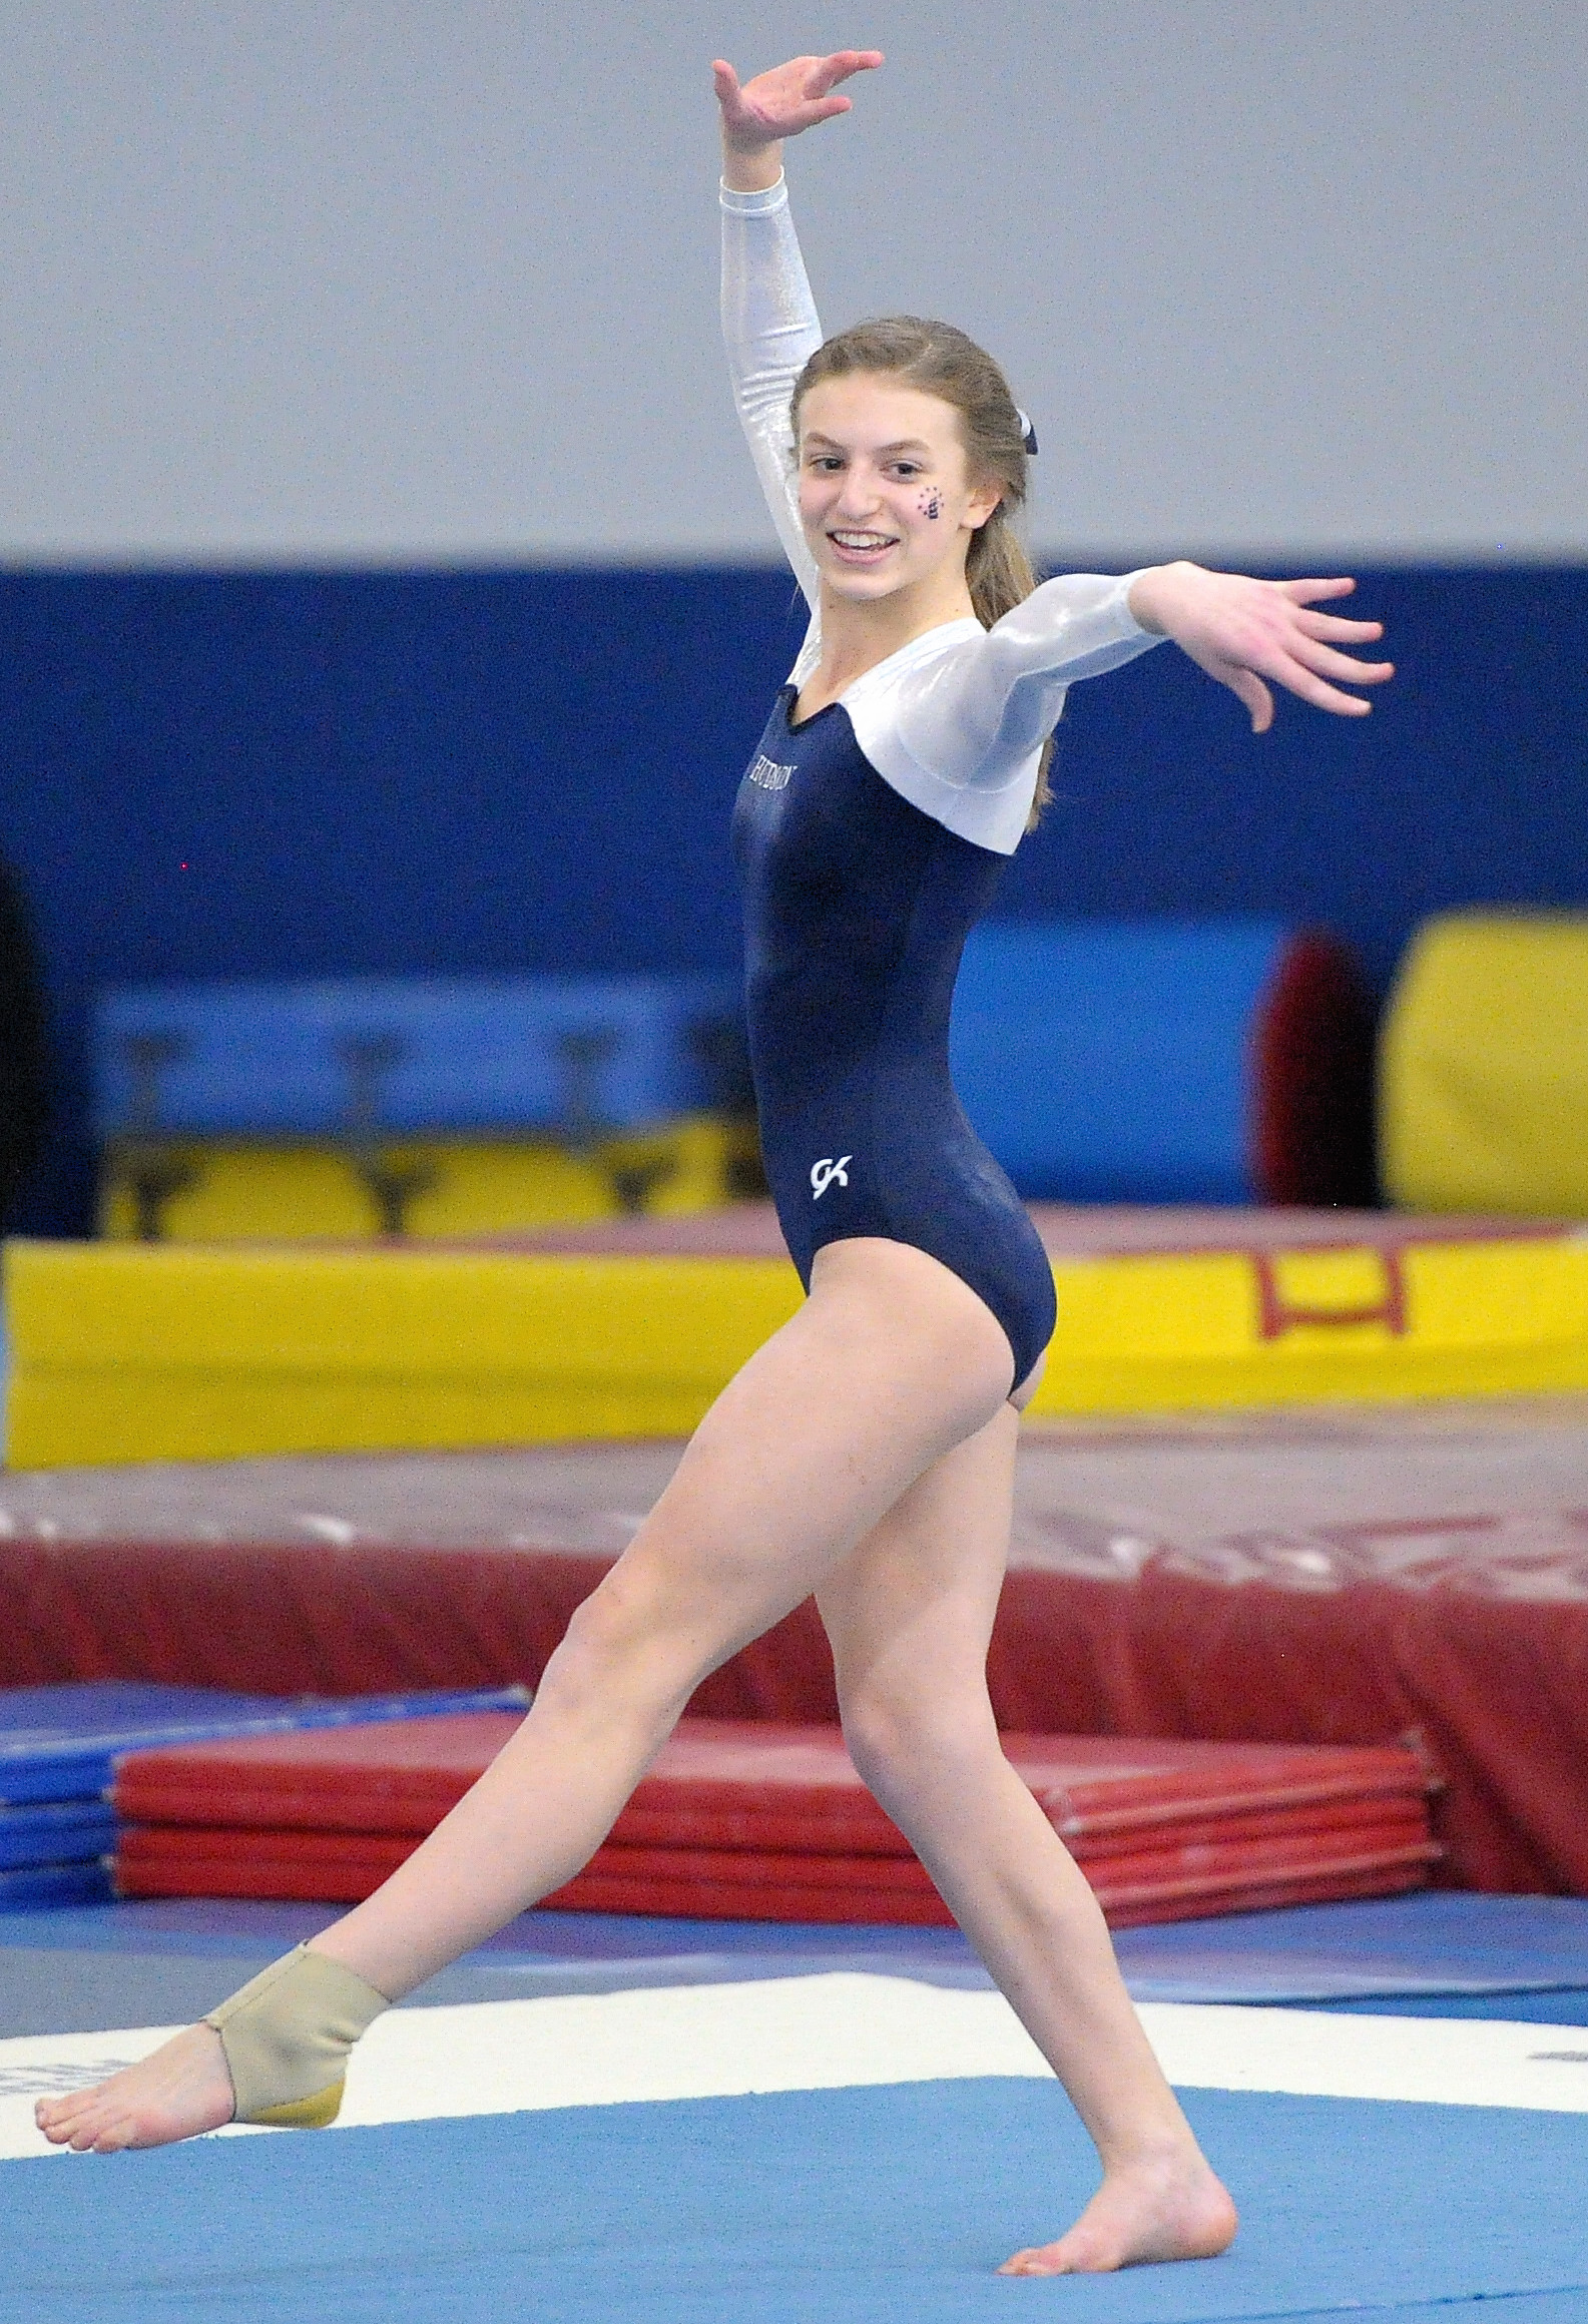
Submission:
[[1009,1336],[1016,1385],[1053,1332],[1037,1229],[949,1078],[960,951],[1028,823],[1072,679],[1156,644],[1130,581],[1067,574],[983,630],[949,621],[793,720],[821,660],[788,402],[821,344],[779,179],[723,188],[723,337],[772,521],[811,627],[735,809],[760,1143],[809,1285],[823,1243],[942,1260]]

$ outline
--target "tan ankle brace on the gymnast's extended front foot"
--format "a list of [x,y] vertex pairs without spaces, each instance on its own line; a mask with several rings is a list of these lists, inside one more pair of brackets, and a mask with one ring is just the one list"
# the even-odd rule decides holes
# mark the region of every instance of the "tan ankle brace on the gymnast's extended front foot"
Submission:
[[233,2078],[233,2122],[323,2131],[342,2108],[346,2052],[384,2008],[386,1994],[307,1945],[260,1968],[205,2017]]

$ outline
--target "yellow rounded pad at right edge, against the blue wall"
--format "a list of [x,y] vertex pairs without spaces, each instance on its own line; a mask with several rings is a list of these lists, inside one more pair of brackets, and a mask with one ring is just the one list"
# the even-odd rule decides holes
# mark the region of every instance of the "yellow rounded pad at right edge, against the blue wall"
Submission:
[[1588,1218],[1588,913],[1418,930],[1379,1046],[1379,1162],[1411,1211]]

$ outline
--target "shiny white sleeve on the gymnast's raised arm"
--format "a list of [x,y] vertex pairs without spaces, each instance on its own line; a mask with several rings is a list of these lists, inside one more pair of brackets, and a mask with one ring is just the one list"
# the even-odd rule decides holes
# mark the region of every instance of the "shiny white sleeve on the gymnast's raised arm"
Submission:
[[816,565],[800,530],[788,400],[821,346],[821,323],[781,179],[765,193],[723,186],[723,344],[760,490],[816,611]]

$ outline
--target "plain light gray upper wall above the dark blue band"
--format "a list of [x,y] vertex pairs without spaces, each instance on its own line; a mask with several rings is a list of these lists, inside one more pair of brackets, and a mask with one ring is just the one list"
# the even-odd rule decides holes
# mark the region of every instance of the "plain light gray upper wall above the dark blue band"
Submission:
[[993,344],[1044,546],[1588,555],[1581,0],[7,0],[0,558],[770,555],[707,63],[856,37],[823,316]]

